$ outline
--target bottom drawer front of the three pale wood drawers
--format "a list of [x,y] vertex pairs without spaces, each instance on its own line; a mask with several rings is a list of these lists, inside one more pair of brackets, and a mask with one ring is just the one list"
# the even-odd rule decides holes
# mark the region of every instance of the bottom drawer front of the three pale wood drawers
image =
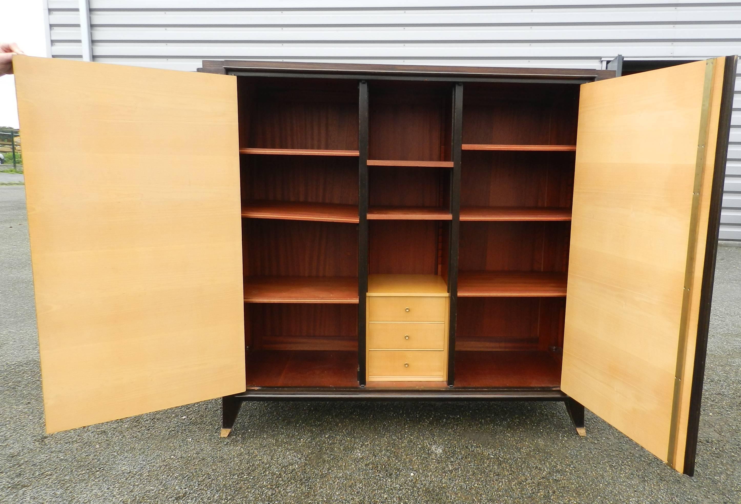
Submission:
[[368,379],[445,379],[444,351],[368,351]]

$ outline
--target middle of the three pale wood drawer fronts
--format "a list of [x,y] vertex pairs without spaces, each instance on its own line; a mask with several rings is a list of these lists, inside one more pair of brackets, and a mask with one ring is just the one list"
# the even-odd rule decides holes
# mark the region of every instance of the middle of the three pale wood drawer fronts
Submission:
[[367,344],[371,350],[442,350],[445,348],[445,324],[371,322]]

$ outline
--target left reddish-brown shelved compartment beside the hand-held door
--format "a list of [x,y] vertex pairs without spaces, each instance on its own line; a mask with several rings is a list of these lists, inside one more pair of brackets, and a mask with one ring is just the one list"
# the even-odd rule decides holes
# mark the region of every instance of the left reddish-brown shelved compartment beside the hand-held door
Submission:
[[237,89],[247,386],[356,386],[357,82]]

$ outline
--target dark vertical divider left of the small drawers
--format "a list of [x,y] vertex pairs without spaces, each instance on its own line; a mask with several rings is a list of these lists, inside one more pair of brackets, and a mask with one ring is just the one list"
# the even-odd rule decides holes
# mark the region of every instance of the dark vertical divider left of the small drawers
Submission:
[[359,82],[358,382],[365,386],[365,294],[368,293],[368,82]]

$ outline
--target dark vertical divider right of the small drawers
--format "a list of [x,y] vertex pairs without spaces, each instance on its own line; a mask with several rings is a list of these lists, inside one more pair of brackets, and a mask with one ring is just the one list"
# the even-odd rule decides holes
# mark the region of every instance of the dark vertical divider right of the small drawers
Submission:
[[448,294],[450,295],[450,314],[448,322],[448,386],[455,381],[456,357],[456,313],[458,308],[458,236],[460,228],[461,199],[461,146],[463,140],[463,84],[456,82],[453,87],[453,138],[451,156],[451,234],[448,253]]

